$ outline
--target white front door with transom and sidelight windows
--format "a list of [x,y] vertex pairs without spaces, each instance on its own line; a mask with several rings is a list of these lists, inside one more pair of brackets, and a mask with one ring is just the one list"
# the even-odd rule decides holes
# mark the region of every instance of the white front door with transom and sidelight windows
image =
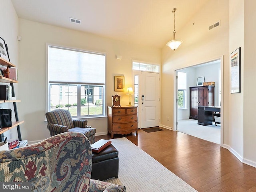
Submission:
[[132,60],[134,105],[138,106],[138,128],[159,126],[159,71],[157,64]]

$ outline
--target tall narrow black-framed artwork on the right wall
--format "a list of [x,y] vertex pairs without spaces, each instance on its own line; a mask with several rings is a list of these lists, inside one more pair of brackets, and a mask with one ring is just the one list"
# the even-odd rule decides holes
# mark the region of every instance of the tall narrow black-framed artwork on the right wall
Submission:
[[229,56],[230,93],[240,93],[240,54],[241,48],[236,49]]

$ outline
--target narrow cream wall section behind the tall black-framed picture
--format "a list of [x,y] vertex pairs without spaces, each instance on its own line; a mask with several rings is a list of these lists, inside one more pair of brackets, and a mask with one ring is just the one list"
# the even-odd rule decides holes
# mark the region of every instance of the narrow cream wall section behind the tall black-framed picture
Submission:
[[[228,94],[229,132],[225,147],[232,151],[240,160],[244,156],[244,0],[230,0],[229,2],[229,53],[241,47],[241,93]],[[229,68],[228,68],[229,70]],[[226,73],[225,73],[226,74]],[[228,74],[227,74],[228,75]],[[229,79],[228,79],[229,82]],[[225,88],[225,87],[224,87]],[[229,86],[226,87],[229,89]]]

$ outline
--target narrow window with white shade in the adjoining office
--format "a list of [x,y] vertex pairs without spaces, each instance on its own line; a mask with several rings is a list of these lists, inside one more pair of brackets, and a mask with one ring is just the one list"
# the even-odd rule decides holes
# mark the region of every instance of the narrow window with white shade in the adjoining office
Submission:
[[178,72],[178,108],[186,108],[187,95],[187,74],[185,72]]

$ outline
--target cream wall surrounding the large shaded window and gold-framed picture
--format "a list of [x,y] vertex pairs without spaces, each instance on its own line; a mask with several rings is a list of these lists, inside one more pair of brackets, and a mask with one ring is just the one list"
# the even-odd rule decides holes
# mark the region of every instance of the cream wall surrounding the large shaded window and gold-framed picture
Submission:
[[[161,50],[138,46],[85,32],[50,26],[19,19],[20,36],[20,118],[25,120],[22,135],[29,141],[42,140],[50,136],[45,122],[46,101],[46,43],[83,50],[106,53],[106,103],[112,105],[114,76],[124,75],[125,90],[132,85],[131,60],[152,63],[161,62]],[[116,55],[122,60],[116,60]],[[121,95],[121,106],[128,105],[129,96]],[[96,135],[107,133],[107,118],[87,118],[88,125],[96,128]]]

